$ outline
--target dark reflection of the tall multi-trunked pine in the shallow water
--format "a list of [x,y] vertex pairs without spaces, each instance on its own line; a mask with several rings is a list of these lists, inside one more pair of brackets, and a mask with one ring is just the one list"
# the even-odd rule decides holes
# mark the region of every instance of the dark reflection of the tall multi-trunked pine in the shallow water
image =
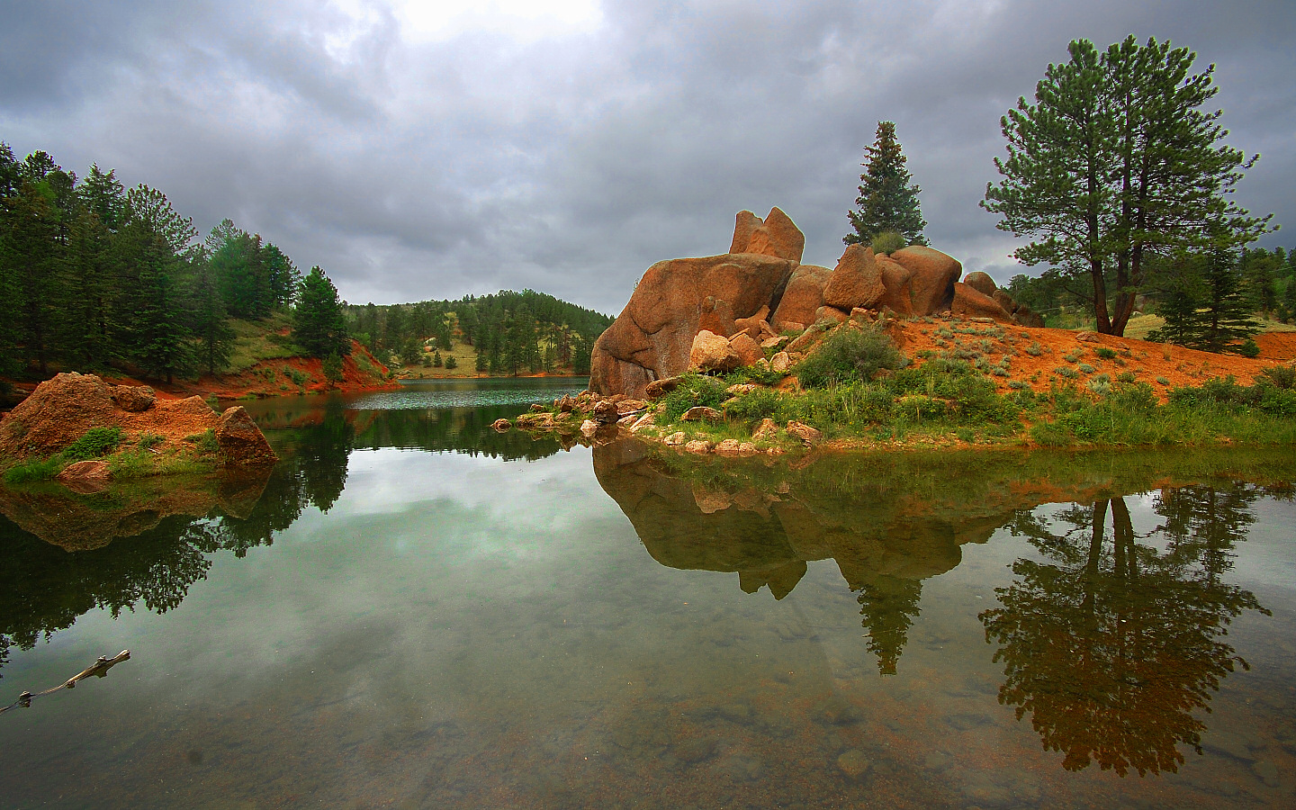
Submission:
[[1201,753],[1194,710],[1209,712],[1220,682],[1247,667],[1220,639],[1244,610],[1267,614],[1222,582],[1256,498],[1243,485],[1163,490],[1155,509],[1165,522],[1147,537],[1124,498],[1059,513],[1061,533],[1030,512],[1010,525],[1043,560],[1013,562],[1017,579],[995,591],[1001,607],[980,616],[1004,664],[999,702],[1017,719],[1029,712],[1067,770],[1174,772],[1181,745]]

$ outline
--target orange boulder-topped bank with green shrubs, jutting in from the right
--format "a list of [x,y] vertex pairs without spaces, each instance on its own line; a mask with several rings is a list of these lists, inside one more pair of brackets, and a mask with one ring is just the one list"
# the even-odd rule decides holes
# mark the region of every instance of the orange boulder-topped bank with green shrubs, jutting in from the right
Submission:
[[801,264],[804,248],[780,209],[740,211],[728,253],[644,272],[588,390],[495,428],[743,456],[1296,442],[1291,334],[1247,358],[1051,329],[925,245],[849,245],[833,270]]

